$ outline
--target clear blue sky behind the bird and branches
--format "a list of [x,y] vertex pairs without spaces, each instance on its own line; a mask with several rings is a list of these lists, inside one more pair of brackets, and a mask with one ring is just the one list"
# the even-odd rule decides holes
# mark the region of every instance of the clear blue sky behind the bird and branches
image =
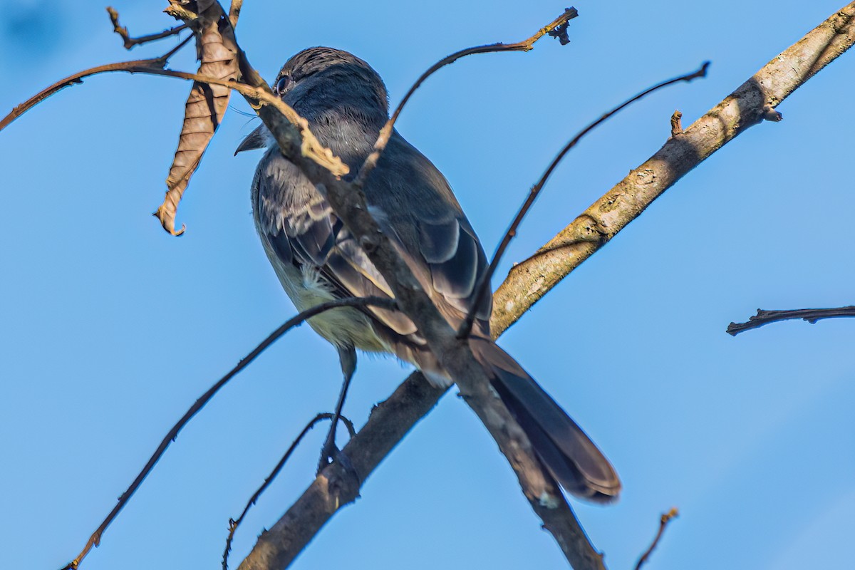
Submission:
[[[451,180],[487,250],[581,126],[647,85],[711,60],[598,129],[557,170],[496,284],[684,124],[823,21],[841,0],[578,2],[572,44],[470,57],[429,79],[398,123]],[[172,22],[115,2],[133,34]],[[396,103],[423,69],[516,41],[564,5],[435,0],[245,2],[239,41],[268,78],[327,44],[363,57]],[[4,8],[5,9],[5,8]],[[69,73],[157,54],[121,49],[98,3],[13,0],[0,24],[0,112]],[[192,69],[190,56],[173,68]],[[855,528],[851,320],[729,337],[758,307],[852,304],[846,54],[669,190],[501,340],[621,474],[608,508],[574,502],[611,568],[634,564],[672,506],[651,568],[850,567]],[[150,213],[188,85],[87,79],[0,133],[0,545],[10,568],[76,555],[180,414],[293,308],[252,227],[255,121],[230,111],[171,238]],[[233,108],[248,110],[233,99]],[[848,204],[848,205],[847,205]],[[363,358],[346,414],[363,423],[408,372]],[[334,350],[308,327],[233,380],[181,433],[85,568],[219,567],[227,520],[304,423],[333,407]],[[313,475],[313,432],[251,511],[233,564]],[[448,396],[387,458],[295,568],[563,567],[495,444]]]

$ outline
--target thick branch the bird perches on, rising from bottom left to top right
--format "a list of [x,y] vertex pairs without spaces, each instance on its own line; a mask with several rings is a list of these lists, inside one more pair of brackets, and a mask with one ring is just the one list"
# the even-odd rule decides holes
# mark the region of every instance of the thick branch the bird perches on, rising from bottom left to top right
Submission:
[[[754,122],[750,124],[756,124],[756,114],[765,115],[768,110],[764,109],[765,104],[758,104],[759,101],[748,105],[755,98],[762,100],[762,97],[747,97],[758,90],[758,81],[775,76],[774,82],[762,85],[771,90],[765,91],[770,97],[775,95],[775,104],[780,103],[814,73],[846,51],[855,41],[853,15],[855,3],[850,3],[776,57],[686,133],[665,144],[649,161],[636,168],[544,246],[541,252],[551,256],[548,262],[535,257],[512,270],[494,297],[496,302],[491,320],[494,337],[519,320],[540,297],[634,220],[663,191],[741,132],[748,123],[740,121],[740,109],[744,109],[747,116],[754,116]],[[795,71],[787,73],[791,64]],[[707,129],[711,129],[709,134],[705,132]],[[599,209],[602,209],[602,214],[593,217],[592,212]],[[444,393],[428,385],[421,374],[414,373],[398,386],[391,397],[374,408],[368,423],[344,450],[363,480],[410,428],[428,414]],[[340,480],[342,475],[339,466],[327,467],[276,523],[276,532],[280,537],[287,537],[287,544],[268,544],[268,536],[262,535],[257,550],[262,551],[260,558],[271,562],[269,567],[283,567],[289,560],[280,558],[281,550],[276,552],[274,549],[285,549],[293,558],[339,508],[357,497],[358,489],[346,492],[329,490],[329,481]],[[336,497],[342,502],[336,503]],[[281,563],[277,565],[274,562]],[[242,566],[245,570],[263,567],[259,562],[249,561]]]

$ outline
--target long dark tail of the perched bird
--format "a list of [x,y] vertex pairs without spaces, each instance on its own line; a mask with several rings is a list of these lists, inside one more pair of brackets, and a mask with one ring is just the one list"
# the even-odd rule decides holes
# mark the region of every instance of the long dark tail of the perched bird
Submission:
[[615,500],[621,491],[615,468],[581,427],[498,344],[470,337],[469,345],[557,482],[577,497]]

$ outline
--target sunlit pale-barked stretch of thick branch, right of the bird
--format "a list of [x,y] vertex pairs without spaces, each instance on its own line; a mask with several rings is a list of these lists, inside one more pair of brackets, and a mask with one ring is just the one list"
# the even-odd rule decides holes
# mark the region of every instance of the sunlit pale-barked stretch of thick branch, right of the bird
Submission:
[[[492,322],[504,330],[552,287],[614,238],[677,180],[709,158],[855,43],[855,2],[808,32],[793,46],[670,138],[640,167],[617,183],[545,244],[518,263],[493,296]],[[521,293],[520,291],[525,291]]]

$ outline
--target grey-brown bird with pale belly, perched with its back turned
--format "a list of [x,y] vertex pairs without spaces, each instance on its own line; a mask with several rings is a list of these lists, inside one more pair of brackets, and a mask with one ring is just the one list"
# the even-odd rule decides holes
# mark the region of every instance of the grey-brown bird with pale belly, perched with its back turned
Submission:
[[[347,51],[313,47],[292,56],[271,87],[308,121],[320,143],[350,167],[347,176],[352,179],[389,117],[380,75]],[[267,151],[252,180],[253,220],[264,253],[295,307],[303,311],[345,297],[393,299],[386,278],[321,191],[282,155],[263,124],[243,139],[235,155],[255,149]],[[369,213],[453,328],[478,303],[469,336],[473,355],[546,470],[577,497],[592,502],[616,499],[621,482],[610,461],[490,338],[492,295],[486,291],[477,301],[487,258],[445,176],[393,130],[363,192]],[[345,382],[336,417],[356,370],[356,350],[390,353],[414,364],[432,385],[453,384],[416,325],[402,312],[372,306],[337,308],[308,322],[339,353]],[[332,461],[337,451],[334,427],[333,421],[326,461]],[[321,467],[324,463],[322,455]]]

